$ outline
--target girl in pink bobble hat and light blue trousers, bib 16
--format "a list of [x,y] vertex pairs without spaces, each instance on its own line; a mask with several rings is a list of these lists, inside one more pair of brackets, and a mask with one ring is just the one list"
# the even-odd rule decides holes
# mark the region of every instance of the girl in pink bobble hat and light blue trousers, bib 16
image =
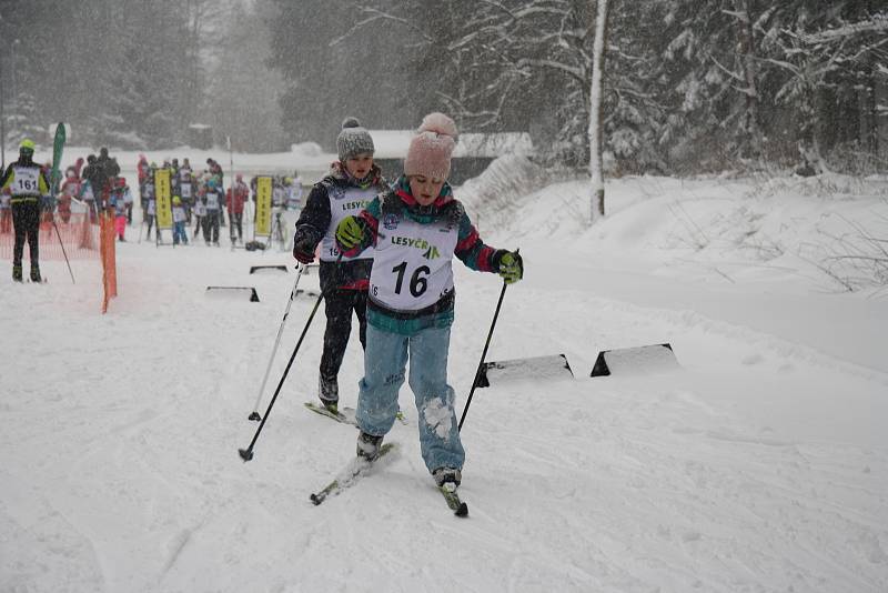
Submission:
[[484,244],[446,179],[456,127],[430,113],[410,144],[404,174],[357,217],[336,228],[346,257],[374,247],[367,302],[364,378],[357,401],[357,455],[375,459],[397,411],[410,358],[410,386],[420,414],[423,461],[435,483],[455,489],[465,452],[447,384],[455,292],[452,260],[496,272],[506,283],[524,273],[517,253]]

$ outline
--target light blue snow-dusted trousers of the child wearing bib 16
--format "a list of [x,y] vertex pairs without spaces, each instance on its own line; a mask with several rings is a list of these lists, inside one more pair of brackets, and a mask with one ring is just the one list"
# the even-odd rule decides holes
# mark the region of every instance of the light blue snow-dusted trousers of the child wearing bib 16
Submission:
[[410,386],[420,413],[423,460],[430,472],[437,468],[462,469],[465,460],[453,409],[456,394],[447,384],[450,341],[450,328],[430,328],[402,335],[367,324],[357,424],[362,431],[376,435],[392,429],[410,352]]

